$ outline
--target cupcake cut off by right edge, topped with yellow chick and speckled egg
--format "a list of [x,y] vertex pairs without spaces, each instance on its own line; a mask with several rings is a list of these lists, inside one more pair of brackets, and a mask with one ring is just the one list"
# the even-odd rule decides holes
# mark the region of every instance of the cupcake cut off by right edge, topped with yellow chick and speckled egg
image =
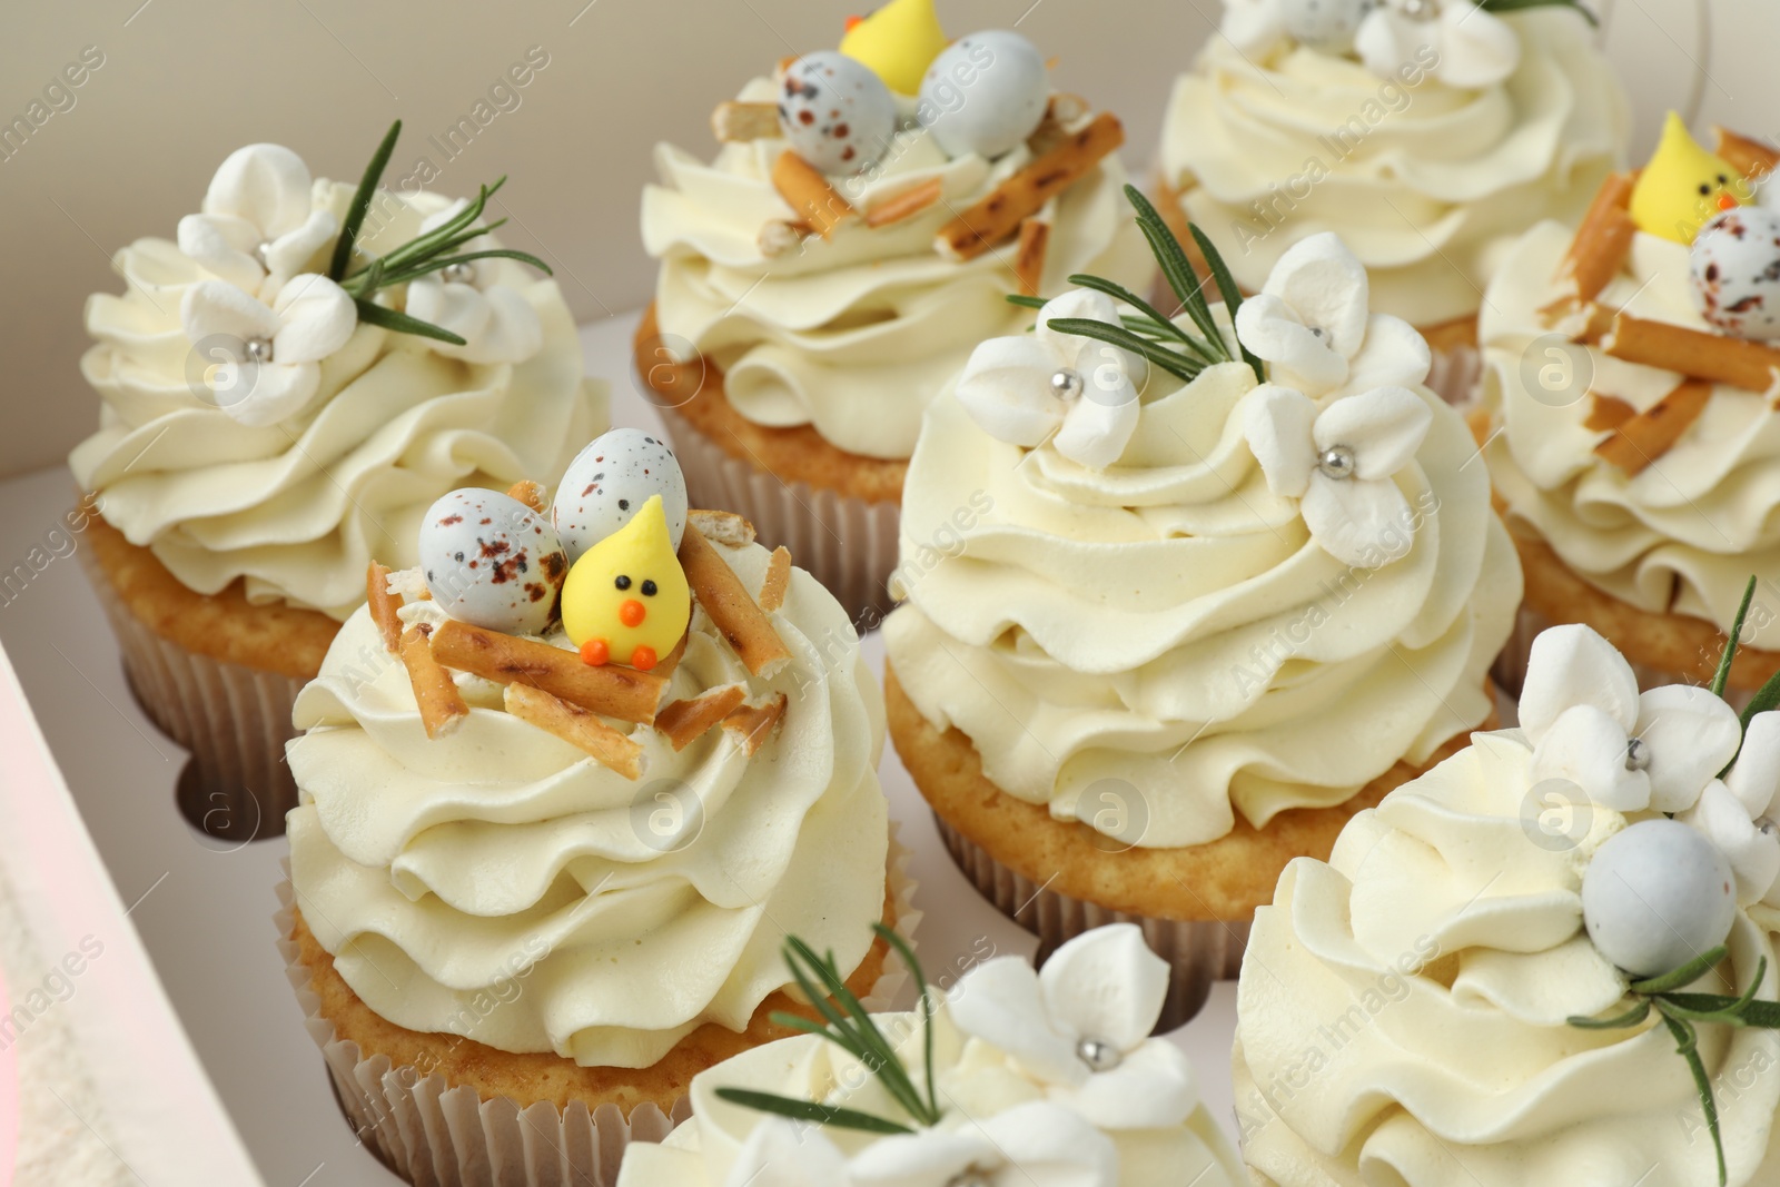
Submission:
[[1752,573],[1728,696],[1780,671],[1780,215],[1744,205],[1775,160],[1671,117],[1636,180],[1575,233],[1527,231],[1490,287],[1486,457],[1527,573],[1509,687],[1554,623],[1606,635],[1645,687],[1703,683]]

